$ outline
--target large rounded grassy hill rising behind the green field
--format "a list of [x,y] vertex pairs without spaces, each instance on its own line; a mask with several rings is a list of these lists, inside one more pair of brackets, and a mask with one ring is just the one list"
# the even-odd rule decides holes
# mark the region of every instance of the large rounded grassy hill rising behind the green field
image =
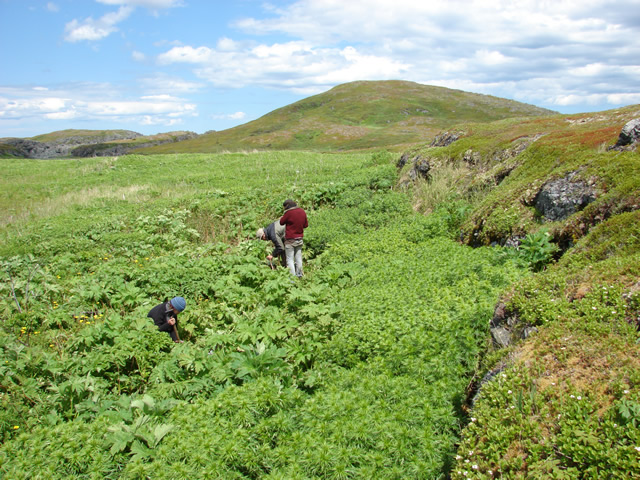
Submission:
[[406,81],[339,85],[220,132],[142,153],[401,150],[460,122],[544,116],[523,103]]

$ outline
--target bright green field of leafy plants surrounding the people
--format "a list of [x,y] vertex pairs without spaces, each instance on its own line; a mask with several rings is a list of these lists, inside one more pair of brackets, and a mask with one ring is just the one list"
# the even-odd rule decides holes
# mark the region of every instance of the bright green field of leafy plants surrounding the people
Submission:
[[[523,271],[414,214],[393,156],[4,166],[4,476],[447,475],[487,318]],[[298,282],[253,239],[288,197],[310,217]],[[183,344],[145,318],[174,295]]]

